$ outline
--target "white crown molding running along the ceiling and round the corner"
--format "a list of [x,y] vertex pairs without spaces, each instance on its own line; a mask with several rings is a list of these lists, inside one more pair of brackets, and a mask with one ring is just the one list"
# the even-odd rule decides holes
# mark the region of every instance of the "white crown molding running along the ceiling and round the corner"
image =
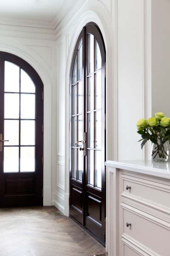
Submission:
[[69,4],[66,10],[63,5],[51,22],[0,18],[0,36],[55,41],[57,34],[70,23],[85,2],[86,0],[77,0],[74,5]]

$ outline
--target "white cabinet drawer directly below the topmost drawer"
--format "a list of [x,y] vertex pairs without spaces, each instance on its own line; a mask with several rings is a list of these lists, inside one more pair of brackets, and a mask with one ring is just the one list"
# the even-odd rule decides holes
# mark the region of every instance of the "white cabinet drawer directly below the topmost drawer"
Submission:
[[141,244],[146,253],[153,252],[148,255],[170,256],[170,224],[126,204],[121,204],[121,211],[122,236]]

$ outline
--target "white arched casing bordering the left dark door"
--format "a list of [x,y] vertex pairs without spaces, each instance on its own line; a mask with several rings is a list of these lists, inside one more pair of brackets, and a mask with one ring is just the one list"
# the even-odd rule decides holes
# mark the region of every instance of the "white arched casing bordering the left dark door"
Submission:
[[43,165],[43,205],[51,205],[51,70],[39,55],[32,51],[28,54],[28,48],[22,44],[14,47],[0,43],[0,51],[12,53],[27,61],[39,74],[44,85],[44,165]]

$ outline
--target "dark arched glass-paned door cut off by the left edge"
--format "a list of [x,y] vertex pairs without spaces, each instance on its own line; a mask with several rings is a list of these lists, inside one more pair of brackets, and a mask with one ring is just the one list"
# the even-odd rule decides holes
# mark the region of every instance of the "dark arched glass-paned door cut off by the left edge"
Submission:
[[0,52],[0,207],[42,205],[43,84],[23,59]]

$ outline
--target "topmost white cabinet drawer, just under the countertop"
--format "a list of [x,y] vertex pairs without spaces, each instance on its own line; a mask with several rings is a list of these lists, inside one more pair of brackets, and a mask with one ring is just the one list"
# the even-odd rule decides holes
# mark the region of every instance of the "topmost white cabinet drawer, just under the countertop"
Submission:
[[170,184],[121,174],[121,195],[170,213]]

